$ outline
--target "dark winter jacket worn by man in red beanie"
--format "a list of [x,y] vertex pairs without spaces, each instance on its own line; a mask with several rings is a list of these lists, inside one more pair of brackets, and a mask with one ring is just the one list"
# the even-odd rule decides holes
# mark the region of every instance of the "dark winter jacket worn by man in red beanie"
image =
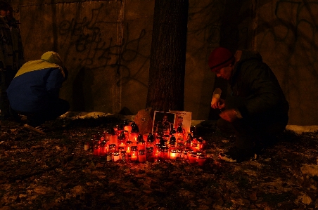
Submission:
[[[256,51],[242,51],[229,81],[231,95],[243,98],[236,108],[242,117],[288,120],[288,102],[274,73]],[[226,103],[227,104],[227,103]]]

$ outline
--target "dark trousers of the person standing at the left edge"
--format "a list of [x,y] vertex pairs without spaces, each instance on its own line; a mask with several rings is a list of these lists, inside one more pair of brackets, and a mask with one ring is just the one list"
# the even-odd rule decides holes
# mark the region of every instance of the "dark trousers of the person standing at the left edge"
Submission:
[[[0,119],[7,119],[12,116],[10,103],[6,94],[6,89],[15,77],[16,71],[7,67],[6,70],[0,70]],[[16,117],[13,115],[13,117]]]

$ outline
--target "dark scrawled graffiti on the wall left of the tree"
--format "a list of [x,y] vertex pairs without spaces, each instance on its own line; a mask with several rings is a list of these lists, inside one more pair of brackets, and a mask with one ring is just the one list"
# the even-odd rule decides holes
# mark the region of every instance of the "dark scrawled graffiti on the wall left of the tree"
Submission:
[[[140,51],[140,43],[143,41],[146,30],[141,29],[139,37],[130,39],[129,24],[124,29],[124,37],[116,28],[122,28],[122,21],[106,21],[105,5],[101,4],[98,8],[91,9],[91,16],[81,19],[72,18],[63,20],[58,25],[58,34],[61,37],[60,48],[67,48],[67,58],[72,60],[72,65],[77,67],[88,67],[90,70],[115,70],[119,75],[121,72],[124,77],[117,81],[119,86],[131,79],[136,80],[134,75],[139,72],[134,70],[131,74],[129,64],[136,59],[144,60],[140,64],[139,70],[149,59],[149,55],[144,55]],[[136,67],[134,67],[136,68]],[[140,82],[140,81],[139,81]],[[146,86],[146,84],[144,84]]]

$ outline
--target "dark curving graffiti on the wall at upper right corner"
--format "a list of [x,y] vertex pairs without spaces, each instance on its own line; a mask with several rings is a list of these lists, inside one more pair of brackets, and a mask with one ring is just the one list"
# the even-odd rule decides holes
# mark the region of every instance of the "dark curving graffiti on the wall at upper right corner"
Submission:
[[286,92],[297,91],[295,84],[299,86],[305,75],[318,79],[317,11],[317,2],[277,1],[275,18],[265,20],[265,16],[259,20],[257,48],[268,54],[272,67],[284,69],[281,81]]

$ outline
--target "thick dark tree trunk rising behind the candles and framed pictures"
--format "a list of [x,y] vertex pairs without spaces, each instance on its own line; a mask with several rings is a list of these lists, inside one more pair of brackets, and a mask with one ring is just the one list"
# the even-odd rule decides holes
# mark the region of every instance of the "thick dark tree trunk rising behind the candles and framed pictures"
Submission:
[[146,107],[184,110],[189,0],[155,0]]

